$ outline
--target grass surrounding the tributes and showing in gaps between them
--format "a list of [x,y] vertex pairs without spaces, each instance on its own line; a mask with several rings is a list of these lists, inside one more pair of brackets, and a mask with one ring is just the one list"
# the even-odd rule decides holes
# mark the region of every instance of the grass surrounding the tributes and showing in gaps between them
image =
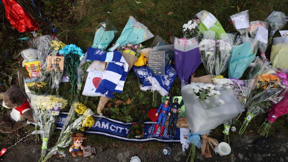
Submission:
[[[46,22],[35,14],[32,4],[28,0],[21,0],[21,4],[27,9],[27,11],[36,18],[37,22],[42,29],[42,34],[51,34],[50,28]],[[141,3],[137,3],[141,2]],[[116,29],[121,33],[130,15],[135,17],[139,22],[143,23],[149,28],[154,35],[159,35],[169,43],[173,43],[173,36],[182,37],[182,25],[189,19],[201,11],[206,10],[211,12],[219,22],[222,24],[226,32],[236,32],[233,26],[228,22],[230,15],[238,13],[240,11],[249,10],[250,21],[264,19],[274,10],[281,11],[288,14],[288,1],[287,0],[256,0],[256,1],[229,1],[229,0],[213,0],[213,1],[173,1],[173,0],[85,0],[85,1],[66,1],[66,0],[47,0],[37,1],[37,6],[42,12],[43,17],[53,22],[53,26],[57,28],[57,37],[65,42],[66,44],[74,43],[81,47],[84,51],[88,47],[91,47],[93,43],[94,33],[99,23],[104,22],[108,19],[109,23],[114,25]],[[41,7],[40,7],[41,6]],[[4,11],[3,9],[1,9]],[[173,14],[168,15],[169,12]],[[25,42],[17,40],[19,37],[25,37],[31,35],[30,33],[19,33],[10,27],[10,24],[6,21],[4,15],[0,15],[1,20],[1,32],[0,32],[0,50],[9,51],[10,55],[16,53],[19,54],[22,50],[28,48]],[[287,30],[287,27],[284,28]],[[167,35],[171,32],[171,35]],[[118,36],[120,35],[118,34]],[[278,33],[275,36],[280,36]],[[115,42],[117,37],[113,42]],[[8,40],[8,41],[6,41]],[[150,46],[153,38],[143,42],[143,45]],[[110,45],[111,46],[111,45]],[[109,46],[109,47],[110,47]],[[108,48],[109,48],[108,47]],[[267,50],[267,54],[270,53],[271,46]],[[2,57],[3,58],[3,57]],[[3,58],[0,62],[0,82],[10,86],[17,84],[17,71],[27,75],[25,69],[21,67],[22,57],[19,56],[15,59]],[[243,75],[243,79],[246,78],[248,70]],[[4,73],[4,74],[3,74]],[[12,76],[12,82],[9,82],[9,76]],[[205,75],[203,66],[200,66],[196,71],[196,76]],[[227,77],[227,73],[225,75]],[[2,88],[4,91],[5,88]],[[68,83],[60,84],[60,94],[65,98],[69,99],[69,94],[65,93],[69,89]],[[173,87],[172,94],[174,96],[181,95],[180,93],[180,82],[176,79]],[[127,105],[130,109],[130,116],[133,121],[138,120],[139,117],[147,118],[146,112],[153,108],[152,106],[152,93],[140,91],[137,77],[130,72],[125,82],[124,91],[122,94],[116,94],[115,99],[111,99],[109,102],[115,100],[126,101],[131,99],[131,104]],[[160,95],[159,103],[160,104]],[[82,101],[85,100],[86,96],[81,96]],[[89,97],[87,106],[96,112],[99,97]],[[109,103],[108,102],[108,103]],[[121,107],[120,107],[121,108]],[[68,108],[67,108],[68,109]],[[143,110],[143,111],[139,111]],[[5,114],[7,110],[2,109],[1,114]],[[138,113],[140,112],[140,113]],[[106,116],[110,116],[109,110],[104,110],[103,113]],[[121,112],[120,112],[121,113]],[[123,114],[122,114],[123,115]],[[121,116],[121,114],[120,114]],[[266,114],[258,115],[252,120],[249,127],[246,130],[246,134],[257,135],[257,127],[261,126],[264,121]],[[239,118],[239,121],[235,123],[239,129],[242,124],[243,115]],[[119,118],[121,120],[121,118]],[[273,124],[270,129],[272,135],[281,135],[288,133],[287,116],[280,117]],[[212,137],[222,140],[223,138],[223,126],[219,126],[212,132]],[[31,130],[27,130],[31,131]],[[57,137],[58,132],[55,132],[54,138]],[[9,136],[9,135],[8,135]],[[18,137],[17,137],[18,138]],[[241,138],[237,133],[230,133],[230,140]],[[0,142],[5,143],[5,146],[13,142],[9,142],[6,134],[0,133]],[[91,135],[89,143],[99,143],[101,147],[106,147],[114,143],[120,145],[117,140],[110,140],[108,138],[99,137],[97,135]],[[133,145],[125,143],[125,145]],[[152,149],[150,144],[143,144],[145,148]],[[161,144],[153,143],[153,146],[160,147]],[[109,146],[110,147],[110,146]],[[113,147],[113,146],[111,146]]]

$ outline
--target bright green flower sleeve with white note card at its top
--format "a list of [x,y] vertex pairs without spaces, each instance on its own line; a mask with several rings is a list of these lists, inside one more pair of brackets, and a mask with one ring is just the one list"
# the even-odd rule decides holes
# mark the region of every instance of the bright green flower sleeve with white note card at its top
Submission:
[[199,24],[199,30],[202,34],[204,31],[213,31],[216,32],[216,36],[219,38],[221,33],[225,33],[225,30],[223,29],[220,22],[210,12],[202,10],[198,12],[196,16],[201,21]]

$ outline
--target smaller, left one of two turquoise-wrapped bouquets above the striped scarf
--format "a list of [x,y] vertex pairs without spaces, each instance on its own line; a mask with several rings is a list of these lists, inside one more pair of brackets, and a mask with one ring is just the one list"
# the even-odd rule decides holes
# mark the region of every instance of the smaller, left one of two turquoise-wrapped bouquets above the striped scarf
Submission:
[[108,22],[100,23],[95,32],[92,48],[97,48],[103,51],[106,50],[117,33],[118,31],[115,27],[110,26]]

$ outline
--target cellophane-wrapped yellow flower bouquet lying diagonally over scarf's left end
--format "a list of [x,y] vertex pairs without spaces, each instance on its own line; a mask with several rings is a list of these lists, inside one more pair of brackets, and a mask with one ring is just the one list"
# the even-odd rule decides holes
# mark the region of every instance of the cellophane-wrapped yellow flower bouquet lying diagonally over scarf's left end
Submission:
[[43,161],[47,161],[53,156],[53,154],[63,150],[68,145],[70,145],[73,141],[73,139],[71,138],[71,134],[74,132],[79,132],[81,127],[87,125],[87,122],[89,122],[89,117],[91,117],[94,112],[91,109],[86,108],[86,110],[78,114],[76,112],[76,109],[79,104],[79,102],[72,103],[71,109],[68,112],[62,130],[60,132],[58,141],[52,148],[49,149],[49,152],[45,156]]

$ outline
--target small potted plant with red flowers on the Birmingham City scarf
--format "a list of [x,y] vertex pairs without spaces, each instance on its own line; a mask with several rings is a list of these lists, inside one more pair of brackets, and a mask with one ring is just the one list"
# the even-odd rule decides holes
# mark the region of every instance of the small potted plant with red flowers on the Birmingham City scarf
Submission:
[[129,130],[131,130],[127,136],[128,139],[131,138],[140,138],[144,136],[144,124],[143,120],[140,119],[138,122],[132,123],[131,127],[129,127]]

